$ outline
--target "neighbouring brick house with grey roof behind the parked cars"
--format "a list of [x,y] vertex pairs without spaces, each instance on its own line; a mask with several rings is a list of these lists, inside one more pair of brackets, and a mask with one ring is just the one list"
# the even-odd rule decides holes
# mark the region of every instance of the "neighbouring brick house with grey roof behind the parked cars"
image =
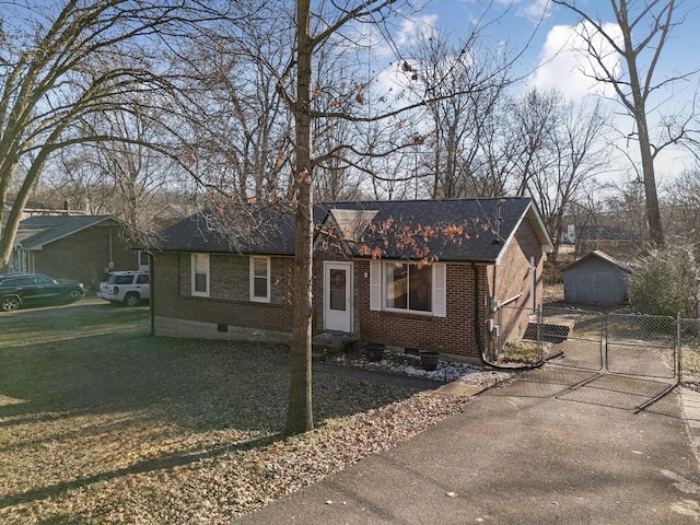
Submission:
[[10,268],[95,285],[112,270],[138,270],[127,225],[110,215],[36,215],[20,223]]

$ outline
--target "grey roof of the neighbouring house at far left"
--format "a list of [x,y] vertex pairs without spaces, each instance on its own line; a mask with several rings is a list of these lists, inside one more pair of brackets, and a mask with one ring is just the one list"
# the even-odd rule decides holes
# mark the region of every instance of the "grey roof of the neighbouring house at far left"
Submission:
[[88,228],[102,223],[122,224],[112,215],[36,215],[20,222],[15,245],[27,249],[42,249]]

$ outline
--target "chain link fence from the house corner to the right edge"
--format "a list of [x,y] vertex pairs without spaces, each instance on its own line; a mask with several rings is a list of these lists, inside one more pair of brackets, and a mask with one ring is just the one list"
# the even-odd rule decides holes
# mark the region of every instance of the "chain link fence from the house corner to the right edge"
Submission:
[[493,314],[491,362],[557,364],[592,372],[700,382],[700,319],[572,307],[502,307]]

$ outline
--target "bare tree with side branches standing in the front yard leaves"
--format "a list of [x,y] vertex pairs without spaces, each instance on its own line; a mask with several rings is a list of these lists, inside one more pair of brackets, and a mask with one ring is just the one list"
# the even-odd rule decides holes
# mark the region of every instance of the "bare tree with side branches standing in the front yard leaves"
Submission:
[[[366,155],[370,159],[382,159],[383,152],[372,149],[371,140],[365,151],[358,151],[355,144],[336,144],[330,151],[316,153],[314,150],[315,138],[313,135],[314,122],[317,119],[346,119],[351,122],[389,122],[386,128],[389,131],[389,140],[382,144],[384,151],[396,151],[411,148],[421,143],[424,136],[419,129],[406,126],[411,133],[401,141],[392,141],[393,131],[399,129],[409,115],[416,115],[417,109],[429,107],[440,100],[447,100],[454,96],[462,96],[475,89],[474,83],[466,82],[458,85],[448,93],[433,91],[425,92],[419,97],[404,97],[398,93],[394,104],[386,103],[377,105],[372,110],[369,105],[363,104],[364,89],[369,85],[368,80],[357,80],[345,88],[345,93],[352,93],[354,101],[364,107],[364,112],[350,112],[343,107],[342,101],[338,100],[339,107],[335,110],[323,110],[316,106],[318,94],[326,92],[328,86],[314,85],[314,67],[317,66],[315,58],[319,49],[328,44],[336,44],[345,38],[352,40],[349,33],[357,31],[358,26],[369,24],[373,27],[381,27],[382,22],[390,13],[400,13],[399,8],[410,10],[410,3],[401,5],[404,2],[395,0],[347,0],[343,2],[320,3],[318,11],[312,12],[310,0],[296,0],[296,38],[295,52],[289,69],[280,75],[280,89],[284,90],[284,96],[289,107],[294,115],[295,140],[294,140],[294,184],[295,184],[295,291],[294,291],[294,327],[291,343],[291,384],[287,418],[287,430],[289,432],[302,432],[313,428],[312,397],[311,397],[311,335],[312,335],[312,247],[313,247],[313,180],[315,170],[324,159],[330,155],[347,156],[347,153]],[[315,5],[316,7],[316,5]],[[354,33],[357,35],[357,33]],[[452,65],[451,65],[452,63]],[[487,78],[498,78],[509,63],[503,63],[500,70],[492,71]],[[399,59],[395,62],[408,82],[416,82],[421,72],[417,65],[407,59]],[[448,57],[444,68],[434,71],[435,86],[440,85],[440,78],[446,71],[459,67],[458,57]],[[430,74],[432,74],[431,72]],[[474,71],[475,77],[478,71]],[[292,75],[294,80],[291,81]],[[483,81],[477,85],[488,85],[489,81]],[[410,84],[409,84],[410,85]],[[337,86],[336,86],[337,88]],[[418,132],[416,132],[418,131]],[[381,136],[381,131],[377,136]],[[400,137],[400,136],[399,136]]]

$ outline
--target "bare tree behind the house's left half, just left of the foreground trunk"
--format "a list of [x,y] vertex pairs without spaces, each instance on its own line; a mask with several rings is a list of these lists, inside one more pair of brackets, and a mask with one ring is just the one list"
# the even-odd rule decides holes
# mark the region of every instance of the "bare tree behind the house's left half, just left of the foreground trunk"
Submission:
[[264,202],[291,194],[293,121],[277,85],[293,31],[277,23],[273,7],[260,10],[243,30],[218,24],[180,57],[188,154],[214,198]]

